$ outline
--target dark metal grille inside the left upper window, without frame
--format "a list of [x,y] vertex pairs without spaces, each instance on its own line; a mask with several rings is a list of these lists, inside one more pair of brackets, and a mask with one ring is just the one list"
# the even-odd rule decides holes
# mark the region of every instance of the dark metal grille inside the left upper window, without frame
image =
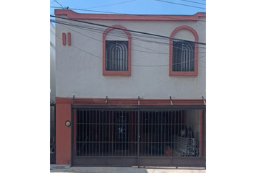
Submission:
[[106,71],[128,71],[128,41],[106,40]]

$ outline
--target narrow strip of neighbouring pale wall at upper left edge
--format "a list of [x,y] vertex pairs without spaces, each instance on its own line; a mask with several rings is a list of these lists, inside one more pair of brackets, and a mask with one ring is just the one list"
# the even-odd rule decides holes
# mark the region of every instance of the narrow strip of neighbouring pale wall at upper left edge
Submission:
[[[49,84],[51,92],[49,93],[50,102],[55,102],[56,97],[56,84],[55,84],[55,68],[56,68],[56,42],[55,42],[55,27],[51,24],[49,25],[49,58],[50,58],[50,76],[49,76]],[[54,33],[53,33],[54,32]]]

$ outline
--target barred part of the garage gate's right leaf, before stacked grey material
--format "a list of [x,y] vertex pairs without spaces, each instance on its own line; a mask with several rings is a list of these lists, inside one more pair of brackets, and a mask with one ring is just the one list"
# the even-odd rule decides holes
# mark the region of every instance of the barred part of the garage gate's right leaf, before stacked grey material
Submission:
[[142,111],[140,156],[199,156],[197,110]]

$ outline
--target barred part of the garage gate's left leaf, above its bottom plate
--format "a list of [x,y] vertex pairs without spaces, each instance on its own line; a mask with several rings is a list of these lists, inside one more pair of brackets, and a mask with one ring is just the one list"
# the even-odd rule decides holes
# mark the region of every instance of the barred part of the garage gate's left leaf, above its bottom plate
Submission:
[[78,110],[74,156],[137,156],[137,111]]

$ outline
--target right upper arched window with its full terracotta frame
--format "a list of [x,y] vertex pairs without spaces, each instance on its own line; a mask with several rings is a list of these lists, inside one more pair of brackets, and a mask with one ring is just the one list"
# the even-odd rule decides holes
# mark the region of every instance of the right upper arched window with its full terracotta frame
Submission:
[[[170,37],[198,42],[197,32],[188,26],[177,27]],[[198,45],[170,40],[169,76],[197,76],[197,74]]]

